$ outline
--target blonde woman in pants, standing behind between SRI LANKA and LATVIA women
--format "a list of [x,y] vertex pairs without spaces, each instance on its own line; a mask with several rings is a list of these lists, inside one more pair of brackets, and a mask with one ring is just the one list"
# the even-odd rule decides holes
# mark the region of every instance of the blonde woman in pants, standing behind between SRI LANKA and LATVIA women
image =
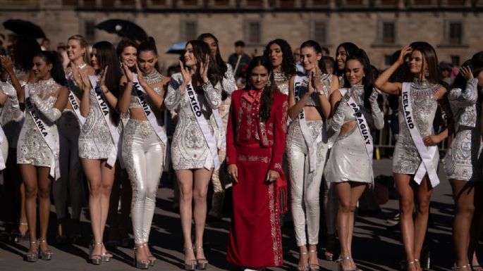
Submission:
[[[75,35],[67,40],[67,56],[69,64],[66,68],[67,87],[72,92],[77,105],[82,96],[82,85],[79,70],[87,75],[94,75],[94,68],[90,63],[90,53],[87,51],[88,44],[84,37]],[[72,206],[71,237],[74,241],[80,237],[80,210],[84,200],[83,170],[79,158],[79,134],[81,122],[68,102],[59,119],[59,141],[60,141],[60,163],[61,177],[52,184],[56,215],[57,215],[57,237],[58,244],[66,244],[66,207],[67,198],[70,198]]]

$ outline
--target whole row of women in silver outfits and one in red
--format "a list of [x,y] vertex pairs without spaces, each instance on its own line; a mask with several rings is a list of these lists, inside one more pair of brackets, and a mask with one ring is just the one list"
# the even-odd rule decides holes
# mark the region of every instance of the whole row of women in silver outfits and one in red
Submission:
[[[71,236],[80,237],[85,178],[90,263],[113,257],[103,243],[108,217],[108,239],[117,245],[129,239],[130,217],[134,265],[152,267],[157,259],[149,250],[149,231],[159,179],[171,164],[185,270],[209,264],[204,225],[207,216],[221,218],[226,187],[233,192],[229,263],[246,270],[283,265],[281,218],[289,212],[300,252],[297,269],[321,270],[322,195],[328,244],[338,239],[340,246],[339,270],[360,270],[351,251],[355,210],[374,186],[372,133],[385,125],[379,102],[384,94],[396,100],[398,112],[393,176],[405,268],[422,270],[429,201],[439,184],[437,145],[451,139],[443,160],[456,206],[453,270],[481,270],[475,251],[483,206],[483,52],[465,61],[448,85],[426,42],[397,51],[380,74],[364,49],[350,42],[337,47],[336,58],[312,40],[292,50],[274,39],[253,58],[244,45],[236,42],[226,63],[218,39],[201,34],[186,44],[180,71],[165,76],[152,38],[125,38],[116,47],[97,42],[90,51],[74,35],[61,56],[18,37],[8,56],[0,56],[0,170],[6,206],[20,203],[8,208],[2,234],[17,232],[29,240],[27,261],[50,260],[51,193],[56,241],[63,244],[68,217]],[[172,137],[166,119],[176,127]],[[334,249],[327,248],[324,257],[335,260]]]

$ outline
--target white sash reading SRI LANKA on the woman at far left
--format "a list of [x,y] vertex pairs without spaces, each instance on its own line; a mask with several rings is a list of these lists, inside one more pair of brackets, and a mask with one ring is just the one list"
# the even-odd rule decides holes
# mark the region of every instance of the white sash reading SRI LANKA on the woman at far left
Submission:
[[[32,104],[32,101],[30,101],[30,95],[29,95],[29,84],[25,84],[25,108],[27,109],[28,113],[32,116],[32,119],[34,120],[35,126],[37,126],[37,129],[39,130],[40,134],[44,137],[45,143],[47,146],[49,146],[49,149],[52,151],[52,160],[50,163],[50,172],[49,175],[51,177],[54,177],[54,179],[59,179],[61,177],[61,168],[60,168],[60,163],[59,163],[59,146],[56,144],[54,137],[52,134],[49,132],[49,130],[45,129],[47,125],[45,122],[42,120],[42,118],[39,117],[40,113],[37,111],[37,108]],[[56,155],[57,153],[57,155]]]

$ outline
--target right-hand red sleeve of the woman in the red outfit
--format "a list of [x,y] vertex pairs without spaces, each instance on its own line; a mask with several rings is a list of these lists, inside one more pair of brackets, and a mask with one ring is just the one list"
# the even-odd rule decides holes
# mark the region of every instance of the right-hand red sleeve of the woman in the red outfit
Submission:
[[[283,173],[282,158],[287,132],[288,96],[283,94],[277,96],[278,99],[274,101],[272,107],[272,110],[275,109],[276,111],[274,115],[274,146],[269,169]],[[276,96],[274,96],[275,98]]]

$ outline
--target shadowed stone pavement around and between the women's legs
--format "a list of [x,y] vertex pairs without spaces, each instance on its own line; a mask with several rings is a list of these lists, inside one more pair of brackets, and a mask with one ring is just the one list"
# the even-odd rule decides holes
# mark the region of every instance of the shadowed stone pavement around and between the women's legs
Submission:
[[[441,170],[440,170],[441,171]],[[391,175],[391,160],[374,160],[374,175]],[[451,223],[453,200],[451,187],[446,177],[440,172],[441,184],[436,187],[432,196],[432,226],[427,234],[427,244],[431,249],[432,270],[451,270],[453,264],[453,244],[451,241]],[[183,268],[182,234],[178,213],[173,213],[173,190],[161,187],[158,191],[157,210],[154,215],[150,241],[152,253],[158,258],[154,270],[181,270]],[[0,207],[0,211],[3,212]],[[386,219],[398,213],[398,202],[390,200],[381,206],[382,212],[375,217],[358,216],[353,239],[353,257],[362,270],[398,270],[398,263],[403,259],[403,247],[400,243],[401,234],[398,230],[386,229]],[[87,244],[90,239],[90,224],[83,211],[82,232],[85,240],[79,245],[57,246],[55,244],[54,213],[51,213],[49,227],[49,244],[54,251],[50,261],[39,260],[37,263],[27,263],[23,256],[27,251],[27,241],[20,243],[0,242],[0,270],[135,270],[132,266],[133,250],[116,248],[114,260],[94,266],[87,263]],[[1,217],[1,215],[0,215]],[[229,229],[229,215],[222,222],[210,223],[205,229],[205,254],[209,260],[207,270],[235,270],[226,263],[226,241]],[[322,228],[322,227],[321,227]],[[322,235],[322,234],[321,234]],[[322,240],[322,238],[321,238]],[[298,260],[298,248],[293,237],[293,229],[289,225],[283,228],[283,244],[290,251],[284,257],[283,267],[269,270],[295,270]],[[321,241],[319,256],[324,256],[324,242]],[[320,258],[319,257],[319,258]],[[337,270],[336,263],[320,260],[322,270]]]

